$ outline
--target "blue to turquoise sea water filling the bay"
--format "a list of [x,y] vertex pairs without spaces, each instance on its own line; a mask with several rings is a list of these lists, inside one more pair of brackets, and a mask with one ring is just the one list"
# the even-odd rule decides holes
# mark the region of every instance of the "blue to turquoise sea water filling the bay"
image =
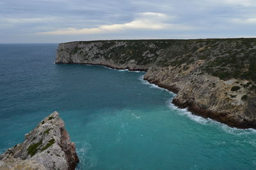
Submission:
[[0,45],[0,153],[60,112],[77,169],[256,169],[256,131],[193,116],[143,72],[55,65],[57,44]]

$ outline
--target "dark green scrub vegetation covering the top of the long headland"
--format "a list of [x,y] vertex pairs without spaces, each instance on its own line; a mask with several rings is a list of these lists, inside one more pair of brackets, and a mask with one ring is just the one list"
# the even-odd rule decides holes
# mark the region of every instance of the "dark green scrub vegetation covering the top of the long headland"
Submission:
[[[135,62],[136,65],[175,66],[203,60],[202,73],[227,80],[246,79],[256,82],[256,38],[226,38],[198,40],[102,40],[70,42],[67,51],[81,56],[83,61],[111,59],[117,65]],[[86,47],[87,46],[87,47]],[[86,49],[87,48],[87,49]]]

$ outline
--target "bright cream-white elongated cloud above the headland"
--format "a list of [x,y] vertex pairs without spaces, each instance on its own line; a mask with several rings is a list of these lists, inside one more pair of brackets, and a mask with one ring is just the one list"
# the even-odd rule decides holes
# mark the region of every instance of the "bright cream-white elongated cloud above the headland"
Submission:
[[97,33],[108,33],[113,31],[124,31],[127,29],[153,29],[153,30],[193,29],[193,27],[184,26],[182,24],[169,24],[168,21],[173,18],[174,17],[170,17],[164,13],[145,12],[145,13],[137,13],[136,19],[124,24],[110,24],[110,25],[102,25],[99,27],[83,28],[83,29],[76,29],[74,27],[69,27],[67,29],[60,29],[56,31],[46,31],[46,32],[40,32],[37,34],[40,34],[40,35],[83,35],[83,34],[90,35],[90,34],[97,34]]

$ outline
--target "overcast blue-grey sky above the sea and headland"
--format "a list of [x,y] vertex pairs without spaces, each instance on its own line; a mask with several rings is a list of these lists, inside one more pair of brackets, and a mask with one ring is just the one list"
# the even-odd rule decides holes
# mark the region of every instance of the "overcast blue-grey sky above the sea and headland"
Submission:
[[256,0],[1,0],[0,43],[256,37]]

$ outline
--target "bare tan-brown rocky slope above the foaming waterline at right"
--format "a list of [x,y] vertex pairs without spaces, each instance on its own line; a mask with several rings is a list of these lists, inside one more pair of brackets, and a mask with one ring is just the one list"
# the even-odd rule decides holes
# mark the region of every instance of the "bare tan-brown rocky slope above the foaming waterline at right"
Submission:
[[[249,98],[249,100],[252,100],[253,102],[251,106],[252,108],[249,108],[252,110],[246,111],[246,108],[243,108],[243,103],[240,102],[241,99],[240,101],[235,100],[234,102],[225,101],[225,95],[222,95],[223,93],[232,93],[230,89],[232,86],[236,85],[236,79],[230,80],[228,84],[227,82],[221,81],[217,77],[212,77],[210,75],[205,75],[204,78],[194,77],[193,75],[186,76],[185,78],[182,76],[172,77],[169,75],[166,77],[166,79],[164,79],[164,76],[166,76],[164,75],[165,73],[166,72],[162,72],[156,78],[150,77],[150,75],[148,75],[150,72],[146,72],[144,75],[144,80],[176,93],[177,95],[175,98],[173,98],[172,103],[177,107],[181,109],[188,107],[188,111],[192,112],[193,114],[202,116],[204,118],[211,118],[221,123],[225,123],[230,127],[256,128],[254,117],[254,97]],[[160,81],[161,79],[162,81]],[[185,79],[185,81],[182,81],[182,79]],[[199,82],[191,84],[191,82],[187,82],[186,79],[196,79]],[[201,82],[204,82],[205,80],[208,83],[201,84]],[[212,86],[212,84],[214,85]],[[218,86],[219,88],[216,88]],[[232,93],[232,95],[233,94],[236,95],[237,92]],[[232,99],[234,100],[234,98]],[[224,109],[221,110],[221,108]],[[247,115],[244,114],[242,117],[241,114],[239,115],[239,112],[241,112],[241,114],[247,113]],[[246,116],[249,117],[246,119]]]

